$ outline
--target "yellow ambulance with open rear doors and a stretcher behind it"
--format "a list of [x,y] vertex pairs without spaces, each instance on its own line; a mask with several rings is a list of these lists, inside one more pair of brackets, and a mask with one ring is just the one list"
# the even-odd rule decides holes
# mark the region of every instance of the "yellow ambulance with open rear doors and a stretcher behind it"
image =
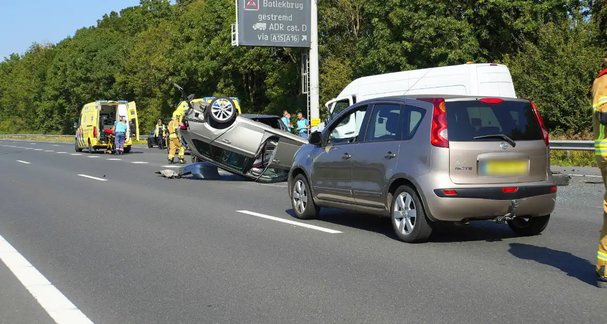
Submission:
[[139,121],[135,101],[99,100],[85,104],[80,112],[80,118],[74,123],[76,128],[76,152],[83,149],[89,153],[98,149],[107,149],[108,135],[114,127],[114,122],[126,116],[127,130],[124,140],[124,153],[131,151],[133,141],[139,140]]

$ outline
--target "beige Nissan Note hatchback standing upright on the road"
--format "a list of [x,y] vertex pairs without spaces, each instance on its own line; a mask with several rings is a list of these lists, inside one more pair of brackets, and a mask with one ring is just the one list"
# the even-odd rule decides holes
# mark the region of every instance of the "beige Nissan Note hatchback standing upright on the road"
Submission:
[[288,176],[301,219],[321,207],[384,215],[401,240],[419,243],[438,222],[495,220],[537,235],[554,210],[548,131],[530,100],[377,98],[309,141]]

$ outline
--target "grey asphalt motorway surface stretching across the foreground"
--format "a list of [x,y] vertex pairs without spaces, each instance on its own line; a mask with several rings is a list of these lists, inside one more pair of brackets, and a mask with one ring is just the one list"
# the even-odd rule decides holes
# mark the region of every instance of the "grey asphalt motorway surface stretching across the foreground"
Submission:
[[[387,218],[323,210],[301,222],[319,228],[285,223],[298,221],[285,184],[158,177],[158,149],[120,160],[72,154],[73,143],[0,140],[0,243],[94,323],[607,317],[606,291],[594,286],[600,178],[559,187],[542,235],[486,221],[440,226],[429,243],[408,245]],[[0,323],[52,323],[49,299],[37,302],[16,269],[0,262]]]

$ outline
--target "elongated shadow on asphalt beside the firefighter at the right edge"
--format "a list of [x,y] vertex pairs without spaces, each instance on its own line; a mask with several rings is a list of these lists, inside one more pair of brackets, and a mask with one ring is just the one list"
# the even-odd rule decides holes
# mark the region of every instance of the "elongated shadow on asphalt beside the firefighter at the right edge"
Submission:
[[577,257],[569,252],[557,251],[543,246],[521,243],[510,243],[510,254],[523,260],[533,260],[544,265],[553,266],[566,272],[569,277],[588,283],[596,284],[595,265],[588,260]]

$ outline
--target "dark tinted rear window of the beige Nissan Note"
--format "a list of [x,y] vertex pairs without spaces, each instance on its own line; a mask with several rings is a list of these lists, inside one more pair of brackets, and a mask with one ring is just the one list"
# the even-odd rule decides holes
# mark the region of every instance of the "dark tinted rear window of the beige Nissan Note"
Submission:
[[486,104],[476,100],[447,101],[445,109],[449,141],[501,141],[499,138],[474,139],[496,134],[507,135],[515,141],[543,139],[529,102]]

